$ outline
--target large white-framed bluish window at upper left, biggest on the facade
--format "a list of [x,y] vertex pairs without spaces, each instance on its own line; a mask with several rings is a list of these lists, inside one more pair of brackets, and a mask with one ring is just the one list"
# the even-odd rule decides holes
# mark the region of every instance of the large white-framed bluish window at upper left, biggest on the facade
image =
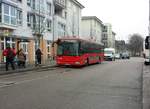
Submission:
[[4,23],[16,25],[16,8],[4,4]]

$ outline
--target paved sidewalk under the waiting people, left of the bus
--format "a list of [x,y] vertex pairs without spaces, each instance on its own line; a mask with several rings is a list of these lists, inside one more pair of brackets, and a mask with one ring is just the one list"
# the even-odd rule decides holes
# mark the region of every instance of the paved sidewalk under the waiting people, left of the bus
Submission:
[[43,64],[41,64],[40,66],[35,66],[35,65],[31,65],[31,64],[27,64],[26,68],[18,68],[17,65],[15,65],[15,70],[11,69],[11,65],[9,65],[9,71],[5,70],[5,64],[1,64],[0,65],[0,75],[6,75],[6,74],[11,74],[11,73],[19,73],[19,72],[26,72],[26,71],[33,71],[33,70],[37,70],[37,69],[44,69],[44,68],[48,68],[48,67],[54,67],[56,66],[56,62],[55,60],[53,61],[47,61],[44,62]]

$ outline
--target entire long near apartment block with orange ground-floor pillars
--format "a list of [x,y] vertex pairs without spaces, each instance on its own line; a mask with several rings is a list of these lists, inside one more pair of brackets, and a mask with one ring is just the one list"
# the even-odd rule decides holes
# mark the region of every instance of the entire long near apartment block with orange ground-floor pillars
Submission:
[[[82,8],[76,0],[0,0],[0,62],[5,61],[2,51],[7,45],[23,48],[29,63],[35,61],[35,50],[40,47],[47,60],[54,40],[73,35],[68,26],[74,24],[74,35],[80,33],[75,28],[80,26]],[[70,15],[72,10],[78,14]],[[72,16],[74,23],[70,24]]]

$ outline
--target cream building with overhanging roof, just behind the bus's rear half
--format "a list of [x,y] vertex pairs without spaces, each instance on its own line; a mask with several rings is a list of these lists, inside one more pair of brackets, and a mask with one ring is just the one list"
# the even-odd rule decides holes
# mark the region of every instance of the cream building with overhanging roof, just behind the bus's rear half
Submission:
[[97,43],[101,43],[103,22],[96,16],[82,17],[82,37]]

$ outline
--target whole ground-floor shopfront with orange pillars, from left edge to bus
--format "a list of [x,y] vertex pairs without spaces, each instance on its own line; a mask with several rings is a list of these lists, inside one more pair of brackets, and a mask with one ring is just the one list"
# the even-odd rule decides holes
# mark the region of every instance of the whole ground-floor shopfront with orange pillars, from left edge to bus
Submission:
[[[46,62],[53,54],[51,49],[52,42],[47,40],[41,40],[40,42],[40,48],[43,52],[42,59],[43,62]],[[33,37],[16,36],[12,35],[11,32],[7,32],[7,34],[3,32],[3,34],[0,34],[0,63],[6,62],[6,58],[2,55],[2,52],[7,46],[14,48],[16,52],[22,48],[26,54],[26,62],[30,64],[35,63],[35,51],[39,47],[38,40]]]

